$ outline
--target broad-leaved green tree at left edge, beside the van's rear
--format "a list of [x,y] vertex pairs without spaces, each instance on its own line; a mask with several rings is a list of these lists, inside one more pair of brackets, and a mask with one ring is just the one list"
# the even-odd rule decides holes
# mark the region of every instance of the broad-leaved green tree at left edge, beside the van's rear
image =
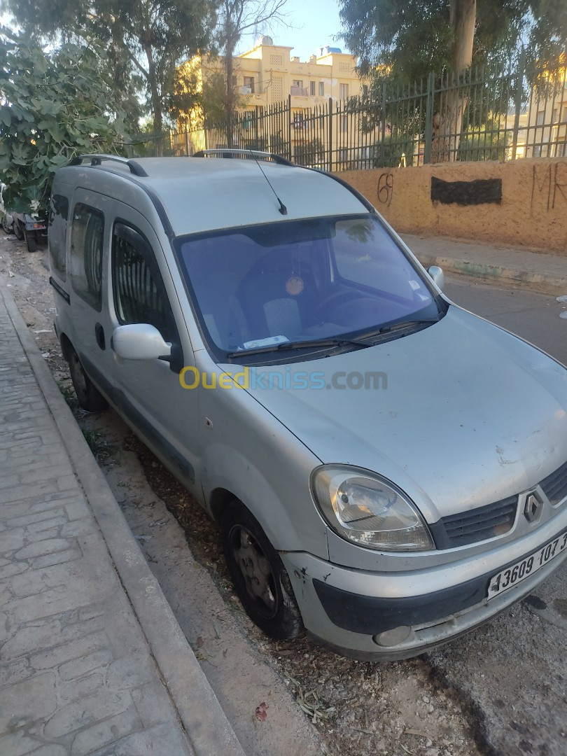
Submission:
[[44,211],[54,171],[82,152],[116,152],[122,119],[93,48],[46,53],[0,27],[0,176],[6,205]]

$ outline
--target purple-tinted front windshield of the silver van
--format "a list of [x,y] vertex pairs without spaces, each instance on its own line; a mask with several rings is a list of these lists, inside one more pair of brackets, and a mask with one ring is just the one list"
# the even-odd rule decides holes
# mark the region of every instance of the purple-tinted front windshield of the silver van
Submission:
[[[439,317],[433,290],[373,215],[180,237],[209,339],[233,354]],[[396,329],[399,330],[399,329]]]

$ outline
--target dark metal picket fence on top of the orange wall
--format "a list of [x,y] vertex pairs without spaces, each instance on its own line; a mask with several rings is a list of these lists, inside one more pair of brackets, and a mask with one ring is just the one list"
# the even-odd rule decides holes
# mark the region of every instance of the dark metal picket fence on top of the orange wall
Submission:
[[520,157],[567,157],[567,58],[508,70],[471,68],[305,107],[290,94],[230,120],[141,136],[132,155],[187,155],[219,147],[267,150],[331,171]]

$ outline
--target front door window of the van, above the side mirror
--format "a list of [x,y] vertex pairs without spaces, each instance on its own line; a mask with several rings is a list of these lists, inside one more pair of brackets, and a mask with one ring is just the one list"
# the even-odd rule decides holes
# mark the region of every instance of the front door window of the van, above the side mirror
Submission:
[[112,270],[119,323],[147,323],[166,341],[173,341],[173,314],[153,250],[138,231],[122,223],[114,226]]

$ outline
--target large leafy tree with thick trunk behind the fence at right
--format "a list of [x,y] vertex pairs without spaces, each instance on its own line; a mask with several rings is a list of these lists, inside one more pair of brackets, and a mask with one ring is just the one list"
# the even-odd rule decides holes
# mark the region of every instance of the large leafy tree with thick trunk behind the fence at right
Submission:
[[[343,35],[361,73],[408,85],[430,72],[444,85],[432,119],[432,161],[455,160],[466,109],[463,72],[510,59],[558,54],[567,39],[565,0],[340,0]],[[376,91],[376,86],[374,87]]]

